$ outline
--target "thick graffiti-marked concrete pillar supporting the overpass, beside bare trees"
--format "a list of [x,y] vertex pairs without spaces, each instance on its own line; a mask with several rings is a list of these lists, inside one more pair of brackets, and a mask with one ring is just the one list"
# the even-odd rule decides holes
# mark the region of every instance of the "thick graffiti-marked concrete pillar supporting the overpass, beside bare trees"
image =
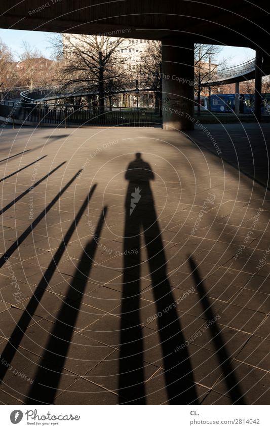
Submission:
[[162,41],[162,116],[164,130],[194,128],[194,43]]

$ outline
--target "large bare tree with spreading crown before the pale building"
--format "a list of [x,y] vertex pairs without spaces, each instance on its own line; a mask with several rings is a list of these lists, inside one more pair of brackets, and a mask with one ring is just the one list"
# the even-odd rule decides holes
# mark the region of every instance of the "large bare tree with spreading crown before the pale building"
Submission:
[[[98,92],[98,104],[104,111],[104,98],[109,98],[121,81],[126,79],[124,58],[121,56],[123,45],[128,40],[104,35],[63,34],[56,37],[53,45],[62,53],[61,86],[80,88]],[[111,103],[111,99],[110,99]]]

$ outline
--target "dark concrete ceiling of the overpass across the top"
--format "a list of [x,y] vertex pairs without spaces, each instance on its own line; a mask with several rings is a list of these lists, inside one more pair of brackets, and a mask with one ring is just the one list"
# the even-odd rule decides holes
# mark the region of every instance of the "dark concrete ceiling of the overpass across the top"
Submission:
[[123,37],[177,36],[267,53],[269,12],[265,0],[1,0],[0,27],[81,34],[124,29]]

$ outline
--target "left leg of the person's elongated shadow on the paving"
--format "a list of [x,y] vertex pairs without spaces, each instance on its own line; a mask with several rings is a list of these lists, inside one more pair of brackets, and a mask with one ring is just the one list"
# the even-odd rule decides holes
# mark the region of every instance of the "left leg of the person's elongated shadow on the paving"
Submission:
[[[128,252],[124,253],[118,394],[120,403],[121,399],[126,399],[129,404],[145,405],[142,328],[139,315],[140,236],[139,224],[129,223],[129,210],[126,205],[124,251]],[[129,254],[131,250],[136,253]]]

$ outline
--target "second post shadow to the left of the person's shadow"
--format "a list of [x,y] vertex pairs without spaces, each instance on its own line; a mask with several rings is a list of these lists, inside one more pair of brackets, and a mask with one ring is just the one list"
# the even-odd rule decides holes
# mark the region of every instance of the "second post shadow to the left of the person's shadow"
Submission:
[[[59,261],[62,258],[62,255],[64,253],[64,251],[66,250],[66,246],[69,242],[69,239],[73,233],[73,231],[76,228],[76,225],[78,224],[78,222],[80,221],[81,217],[83,216],[83,213],[85,211],[85,208],[88,205],[89,200],[91,199],[94,190],[96,188],[96,184],[93,185],[93,187],[91,188],[87,198],[85,199],[84,203],[82,204],[79,212],[76,214],[74,220],[72,221],[71,225],[69,226],[67,232],[65,233],[65,236],[61,242],[61,244],[59,245],[57,251],[55,252],[48,268],[46,269],[41,281],[38,283],[30,301],[28,302],[26,308],[23,311],[22,316],[20,317],[18,323],[16,324],[10,339],[5,347],[5,349],[2,352],[2,358],[4,361],[5,360],[10,364],[16,354],[16,351],[21,343],[21,340],[24,336],[24,333],[29,325],[29,323],[31,322],[31,319],[34,315],[34,312],[38,306],[38,304],[40,304],[40,301],[46,291],[47,286],[49,285],[53,274],[55,272],[55,269],[59,263]],[[4,376],[6,375],[8,371],[7,366],[3,366],[3,364],[0,364],[0,383],[3,381]]]

